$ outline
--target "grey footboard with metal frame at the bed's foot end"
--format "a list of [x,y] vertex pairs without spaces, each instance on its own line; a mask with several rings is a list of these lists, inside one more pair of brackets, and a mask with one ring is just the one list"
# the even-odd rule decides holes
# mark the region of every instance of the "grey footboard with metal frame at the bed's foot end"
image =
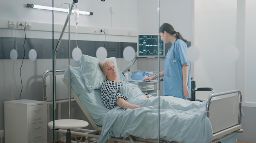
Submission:
[[[232,95],[229,96],[229,94]],[[223,95],[223,98],[220,98],[221,95]],[[241,105],[242,95],[239,90],[209,95],[206,101],[205,114],[209,117],[212,125],[212,143],[230,137],[236,132],[243,131],[241,129]]]

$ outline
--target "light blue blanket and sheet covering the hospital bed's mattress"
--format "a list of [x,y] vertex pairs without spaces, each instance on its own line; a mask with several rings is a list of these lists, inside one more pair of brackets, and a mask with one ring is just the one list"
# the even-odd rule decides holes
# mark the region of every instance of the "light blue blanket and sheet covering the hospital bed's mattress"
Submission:
[[[108,110],[101,101],[101,91],[88,91],[81,76],[80,67],[70,67],[71,87],[81,104],[103,131],[98,143],[106,143],[112,137],[158,138],[158,98],[145,98],[135,85],[124,86],[122,93],[128,95],[128,102],[142,108],[124,110],[117,106]],[[68,81],[68,70],[64,78]],[[165,101],[167,100],[167,102]],[[174,97],[160,97],[160,136],[168,141],[182,143],[209,143],[211,125],[205,117],[205,102],[191,102]],[[168,108],[166,108],[168,107]],[[243,112],[241,119],[243,118]],[[222,140],[222,143],[236,143],[238,133]],[[205,142],[204,142],[205,141]]]

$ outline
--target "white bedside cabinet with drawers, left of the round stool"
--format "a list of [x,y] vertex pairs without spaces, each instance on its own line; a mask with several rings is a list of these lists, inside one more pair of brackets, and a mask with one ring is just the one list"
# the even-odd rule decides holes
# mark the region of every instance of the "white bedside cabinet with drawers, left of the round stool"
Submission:
[[4,101],[4,143],[47,143],[46,102]]

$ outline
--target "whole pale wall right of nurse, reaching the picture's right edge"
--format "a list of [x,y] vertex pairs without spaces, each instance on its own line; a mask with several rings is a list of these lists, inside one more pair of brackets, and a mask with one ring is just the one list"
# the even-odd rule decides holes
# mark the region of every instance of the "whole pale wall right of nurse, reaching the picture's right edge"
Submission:
[[[243,106],[256,106],[254,93],[254,1],[195,0],[194,44],[201,56],[195,62],[197,87],[213,87],[215,92],[240,89]],[[236,47],[237,61],[231,61],[234,53],[225,49]],[[223,54],[225,53],[225,54]],[[204,98],[199,94],[198,98]]]

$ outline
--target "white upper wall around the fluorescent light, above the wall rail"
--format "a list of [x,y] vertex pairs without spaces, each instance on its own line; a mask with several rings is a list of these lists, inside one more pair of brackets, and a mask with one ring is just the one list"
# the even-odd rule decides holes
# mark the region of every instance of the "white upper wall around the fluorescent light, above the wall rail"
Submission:
[[[72,3],[72,0],[54,1],[54,7],[67,9],[68,5],[62,3]],[[79,25],[90,27],[106,27],[106,28],[125,28],[137,29],[137,21],[131,20],[136,18],[137,0],[120,1],[120,0],[79,0],[77,6],[81,11],[93,12],[93,16],[81,15]],[[38,4],[44,6],[52,6],[52,0],[11,0],[1,2],[1,19],[21,20],[28,22],[39,22],[52,24],[52,12],[46,10],[36,10],[26,8],[26,4]],[[110,6],[113,7],[114,13],[110,13]],[[124,16],[125,15],[125,16]],[[64,24],[67,14],[63,12],[54,12],[54,24]],[[71,15],[71,25],[75,25]]]

